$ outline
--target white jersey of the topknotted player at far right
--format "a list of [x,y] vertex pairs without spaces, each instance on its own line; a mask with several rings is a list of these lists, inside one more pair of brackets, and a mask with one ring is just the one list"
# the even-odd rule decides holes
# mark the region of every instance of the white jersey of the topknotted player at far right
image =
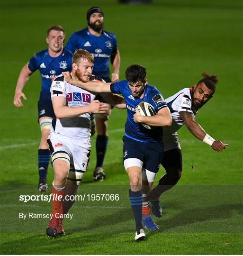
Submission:
[[194,116],[197,114],[197,111],[192,109],[191,92],[192,88],[184,88],[173,96],[165,99],[165,102],[171,111],[172,124],[171,126],[163,127],[163,136],[175,133],[184,124],[184,121],[179,114],[180,111],[190,112]]

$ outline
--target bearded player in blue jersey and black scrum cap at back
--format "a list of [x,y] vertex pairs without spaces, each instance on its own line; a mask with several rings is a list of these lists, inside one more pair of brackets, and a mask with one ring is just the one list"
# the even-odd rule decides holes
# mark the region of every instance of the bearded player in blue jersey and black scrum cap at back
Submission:
[[[101,77],[106,82],[116,82],[119,80],[120,54],[117,49],[117,38],[113,33],[103,30],[104,13],[99,7],[92,7],[87,12],[88,27],[72,34],[65,48],[72,53],[77,49],[89,51],[95,58],[93,74]],[[109,61],[113,67],[113,73],[109,71]],[[108,119],[111,114],[111,105],[100,96],[100,102],[106,103],[108,110],[105,114],[95,114],[97,139],[96,155],[97,162],[93,175],[95,181],[102,181],[105,178],[103,162],[108,146]],[[94,116],[92,118],[92,132],[95,131]]]

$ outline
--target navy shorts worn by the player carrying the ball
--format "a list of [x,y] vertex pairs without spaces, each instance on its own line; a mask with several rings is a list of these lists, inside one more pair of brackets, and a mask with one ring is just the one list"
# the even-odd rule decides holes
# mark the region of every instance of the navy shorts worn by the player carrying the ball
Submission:
[[143,162],[143,168],[157,173],[163,159],[162,142],[140,142],[123,136],[123,161],[136,158]]

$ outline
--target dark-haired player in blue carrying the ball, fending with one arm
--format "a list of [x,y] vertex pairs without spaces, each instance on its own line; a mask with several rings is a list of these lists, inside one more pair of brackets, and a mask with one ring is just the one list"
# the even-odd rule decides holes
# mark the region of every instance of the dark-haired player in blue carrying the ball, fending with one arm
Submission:
[[[162,126],[170,126],[172,119],[170,110],[160,91],[146,80],[146,69],[141,65],[131,65],[126,69],[126,80],[120,82],[82,83],[71,79],[68,72],[63,73],[65,79],[83,89],[99,92],[113,92],[122,94],[126,101],[127,121],[125,136],[123,137],[123,162],[126,173],[129,176],[129,199],[135,219],[135,240],[145,239],[142,224],[142,180],[148,193],[155,175],[159,170],[163,157]],[[142,117],[136,106],[146,101],[153,105],[156,115]],[[157,126],[153,130],[144,128],[141,123]],[[144,171],[143,171],[144,169]],[[143,178],[142,178],[143,173]],[[144,225],[148,229],[157,229],[153,219],[144,219]],[[152,227],[150,227],[152,226]]]

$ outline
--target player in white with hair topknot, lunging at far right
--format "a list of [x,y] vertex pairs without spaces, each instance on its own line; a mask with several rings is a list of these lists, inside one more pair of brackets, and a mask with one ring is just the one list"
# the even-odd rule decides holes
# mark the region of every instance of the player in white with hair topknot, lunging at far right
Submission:
[[162,217],[160,196],[171,189],[180,179],[182,172],[182,154],[177,131],[186,125],[192,135],[207,143],[215,151],[222,151],[228,144],[215,140],[196,122],[198,110],[212,99],[216,90],[218,77],[202,73],[203,79],[191,88],[184,88],[165,100],[171,111],[172,125],[163,127],[164,157],[162,166],[166,174],[149,194],[152,211],[156,217]]

